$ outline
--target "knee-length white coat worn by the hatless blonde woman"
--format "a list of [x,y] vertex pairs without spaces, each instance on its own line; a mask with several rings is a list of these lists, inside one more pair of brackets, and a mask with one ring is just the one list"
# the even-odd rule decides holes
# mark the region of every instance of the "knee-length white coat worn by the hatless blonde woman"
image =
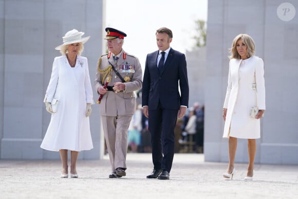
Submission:
[[[256,89],[252,84],[256,84]],[[252,56],[246,60],[231,59],[224,108],[227,116],[224,138],[256,139],[260,137],[260,120],[250,117],[250,108],[265,110],[264,62]]]

